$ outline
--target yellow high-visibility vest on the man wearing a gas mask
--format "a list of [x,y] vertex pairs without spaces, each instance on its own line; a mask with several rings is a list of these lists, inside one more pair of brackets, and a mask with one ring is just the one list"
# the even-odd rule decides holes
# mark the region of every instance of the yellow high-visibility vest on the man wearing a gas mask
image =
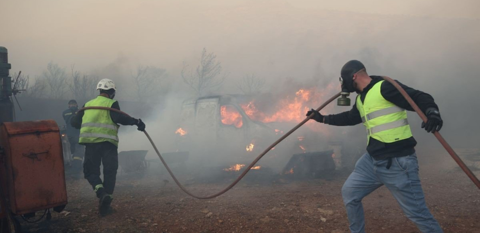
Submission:
[[367,128],[367,144],[371,137],[384,143],[391,143],[412,136],[407,111],[382,96],[383,82],[384,80],[373,85],[363,102],[360,95],[357,96],[357,109]]

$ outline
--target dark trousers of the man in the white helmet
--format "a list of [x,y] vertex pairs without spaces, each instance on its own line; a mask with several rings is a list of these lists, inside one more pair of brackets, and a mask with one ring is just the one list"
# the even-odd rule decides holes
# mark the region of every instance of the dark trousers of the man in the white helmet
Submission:
[[[100,179],[100,165],[103,164],[103,182]],[[103,184],[105,191],[112,195],[119,167],[117,146],[110,142],[85,143],[84,176],[95,190]]]

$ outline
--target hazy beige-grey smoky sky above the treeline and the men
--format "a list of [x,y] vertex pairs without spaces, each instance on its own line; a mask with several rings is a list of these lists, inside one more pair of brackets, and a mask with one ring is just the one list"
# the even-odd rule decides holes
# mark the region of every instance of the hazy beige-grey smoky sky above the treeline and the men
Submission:
[[284,78],[336,82],[360,59],[370,74],[431,93],[447,137],[480,130],[469,124],[478,108],[458,104],[478,99],[478,0],[0,0],[0,9],[0,46],[23,74],[53,61],[121,81],[154,65],[185,90],[182,62],[196,66],[206,48],[230,73],[223,93],[252,73],[280,91]]

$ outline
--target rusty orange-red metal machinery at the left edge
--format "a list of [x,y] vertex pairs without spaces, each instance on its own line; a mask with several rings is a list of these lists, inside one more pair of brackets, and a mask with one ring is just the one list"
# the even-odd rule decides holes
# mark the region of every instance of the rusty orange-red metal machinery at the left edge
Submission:
[[29,218],[67,204],[60,130],[53,120],[14,122],[7,49],[0,47],[0,232],[21,232]]

